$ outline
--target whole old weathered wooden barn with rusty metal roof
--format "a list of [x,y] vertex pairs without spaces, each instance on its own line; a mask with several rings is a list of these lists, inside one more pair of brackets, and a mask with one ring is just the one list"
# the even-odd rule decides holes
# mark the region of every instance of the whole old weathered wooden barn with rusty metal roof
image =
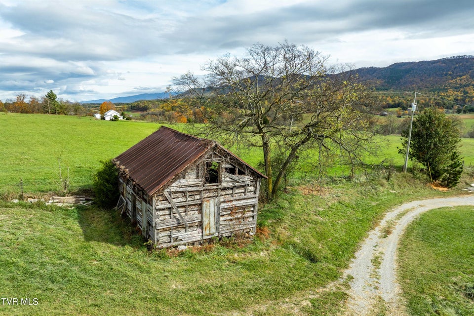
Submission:
[[118,209],[158,247],[255,233],[266,177],[217,142],[161,126],[114,162]]

